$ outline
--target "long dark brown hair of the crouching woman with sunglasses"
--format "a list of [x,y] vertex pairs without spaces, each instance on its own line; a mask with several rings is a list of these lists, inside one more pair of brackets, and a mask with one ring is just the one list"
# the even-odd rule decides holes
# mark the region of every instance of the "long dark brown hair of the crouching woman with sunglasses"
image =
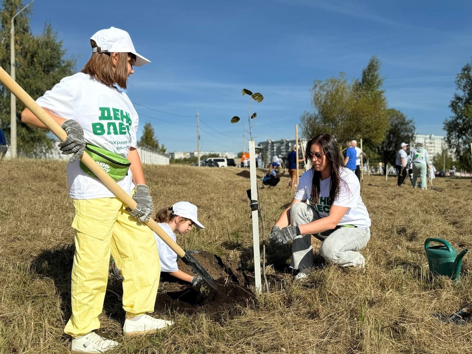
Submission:
[[[341,179],[340,169],[344,166],[344,161],[339,153],[338,144],[336,140],[329,134],[320,134],[308,143],[306,143],[305,156],[311,155],[311,146],[318,144],[323,148],[324,156],[329,161],[331,166],[331,185],[329,187],[329,203],[332,205],[334,200],[339,195],[341,189],[341,183],[346,183]],[[311,202],[318,203],[318,197],[320,196],[320,180],[321,173],[312,167],[313,169],[313,181],[311,188]]]

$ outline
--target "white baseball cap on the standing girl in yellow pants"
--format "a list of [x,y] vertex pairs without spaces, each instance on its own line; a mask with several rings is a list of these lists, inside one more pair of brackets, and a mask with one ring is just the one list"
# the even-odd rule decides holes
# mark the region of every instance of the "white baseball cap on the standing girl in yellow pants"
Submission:
[[115,27],[101,29],[92,35],[90,39],[94,40],[98,46],[97,48],[92,48],[92,53],[133,53],[136,56],[134,66],[150,63],[150,60],[136,52],[131,37],[125,30]]

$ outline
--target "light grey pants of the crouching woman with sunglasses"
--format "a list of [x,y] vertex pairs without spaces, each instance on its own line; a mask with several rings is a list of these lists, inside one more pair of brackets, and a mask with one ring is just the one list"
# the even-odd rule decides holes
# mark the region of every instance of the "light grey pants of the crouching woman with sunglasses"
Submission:
[[[321,219],[320,214],[306,203],[296,203],[290,209],[292,225],[308,224]],[[312,235],[295,236],[292,243],[291,268],[303,269],[313,266]],[[328,263],[339,266],[365,265],[364,256],[359,252],[370,239],[370,229],[343,227],[325,231],[319,236],[324,238],[320,254]]]

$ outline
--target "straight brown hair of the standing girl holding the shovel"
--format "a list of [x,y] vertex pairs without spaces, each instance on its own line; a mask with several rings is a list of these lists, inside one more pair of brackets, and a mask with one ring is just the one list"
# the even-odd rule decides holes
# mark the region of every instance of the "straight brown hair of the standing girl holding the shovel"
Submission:
[[[92,48],[97,48],[97,43],[90,39]],[[131,65],[134,65],[136,56],[132,53],[118,53],[118,63],[114,68],[112,63],[112,53],[92,53],[89,61],[86,62],[81,72],[95,78],[102,84],[113,87],[117,84],[120,88],[126,89],[128,82],[128,58],[131,58]]]

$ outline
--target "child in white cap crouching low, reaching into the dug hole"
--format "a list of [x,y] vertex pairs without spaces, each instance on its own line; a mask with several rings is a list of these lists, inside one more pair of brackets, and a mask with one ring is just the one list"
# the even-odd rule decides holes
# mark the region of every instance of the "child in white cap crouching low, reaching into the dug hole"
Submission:
[[[189,202],[178,202],[172,207],[160,209],[155,221],[174,241],[177,241],[176,232],[185,235],[192,225],[198,229],[205,227],[197,219],[197,207]],[[159,236],[154,233],[161,261],[161,272],[167,272],[178,280],[188,282],[193,288],[198,287],[203,279],[200,276],[192,276],[177,267],[177,253],[175,253]]]

